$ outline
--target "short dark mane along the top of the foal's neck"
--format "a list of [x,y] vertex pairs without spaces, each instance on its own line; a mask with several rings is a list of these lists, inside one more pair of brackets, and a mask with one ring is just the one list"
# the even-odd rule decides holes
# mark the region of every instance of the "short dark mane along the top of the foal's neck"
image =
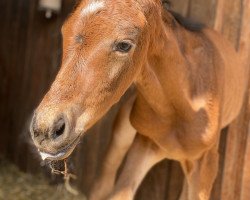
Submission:
[[183,26],[185,29],[190,30],[190,31],[201,31],[205,25],[199,22],[194,22],[186,17],[183,17],[179,13],[171,10],[171,3],[169,0],[162,0],[162,5],[164,9],[172,14],[172,16],[175,18],[175,20]]

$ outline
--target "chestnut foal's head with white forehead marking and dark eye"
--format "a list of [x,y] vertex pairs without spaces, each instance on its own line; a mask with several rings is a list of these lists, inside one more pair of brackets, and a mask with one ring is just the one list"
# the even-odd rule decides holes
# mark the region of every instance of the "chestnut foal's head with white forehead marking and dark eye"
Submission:
[[135,0],[86,0],[65,22],[61,69],[31,123],[43,158],[67,157],[135,81],[149,46],[144,10]]

